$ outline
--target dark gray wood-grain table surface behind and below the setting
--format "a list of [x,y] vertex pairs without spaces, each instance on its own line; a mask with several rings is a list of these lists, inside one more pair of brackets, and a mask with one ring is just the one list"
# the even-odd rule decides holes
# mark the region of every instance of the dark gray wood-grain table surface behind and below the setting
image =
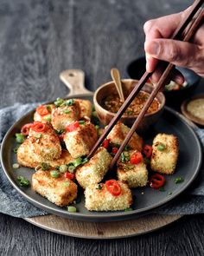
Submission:
[[[143,55],[143,23],[190,3],[0,0],[0,107],[63,97],[63,69],[83,69],[92,90],[111,79],[112,67],[126,75],[127,64]],[[203,255],[203,217],[129,239],[83,240],[0,214],[0,255]]]

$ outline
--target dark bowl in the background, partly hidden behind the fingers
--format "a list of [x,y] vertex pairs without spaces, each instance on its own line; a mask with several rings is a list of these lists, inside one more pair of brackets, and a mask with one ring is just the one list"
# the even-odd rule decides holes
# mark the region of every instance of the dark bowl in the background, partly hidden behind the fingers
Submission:
[[[185,69],[180,67],[175,67],[175,68],[182,73],[182,75],[184,76],[187,82],[187,86],[179,90],[164,90],[163,93],[166,96],[167,100],[181,101],[192,94],[192,92],[198,85],[198,82],[200,81],[201,76],[195,74],[194,71],[190,69]],[[139,57],[137,60],[131,62],[127,66],[127,74],[132,79],[139,80],[142,77],[145,70],[146,70],[146,60],[144,56]]]

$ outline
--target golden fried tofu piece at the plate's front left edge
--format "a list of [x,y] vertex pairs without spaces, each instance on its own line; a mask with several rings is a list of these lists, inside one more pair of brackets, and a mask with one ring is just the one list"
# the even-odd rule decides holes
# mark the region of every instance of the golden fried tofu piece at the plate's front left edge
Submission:
[[64,175],[54,178],[49,171],[37,171],[32,176],[33,190],[60,207],[66,207],[77,197],[77,185]]

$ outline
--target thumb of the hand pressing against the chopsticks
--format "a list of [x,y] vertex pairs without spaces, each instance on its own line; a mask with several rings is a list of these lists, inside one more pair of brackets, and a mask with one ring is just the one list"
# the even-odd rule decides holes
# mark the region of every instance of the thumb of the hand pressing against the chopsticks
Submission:
[[147,62],[148,59],[150,62],[152,59],[159,59],[188,69],[196,66],[200,52],[199,46],[196,44],[161,38],[146,41],[144,49],[146,55],[149,56]]

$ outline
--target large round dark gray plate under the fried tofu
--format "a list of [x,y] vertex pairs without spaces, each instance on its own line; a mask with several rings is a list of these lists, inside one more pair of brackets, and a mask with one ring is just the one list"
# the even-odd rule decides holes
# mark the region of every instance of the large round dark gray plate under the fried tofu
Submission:
[[[91,99],[91,97],[85,96],[82,98]],[[41,195],[35,194],[30,187],[22,188],[17,185],[17,175],[23,175],[31,181],[31,176],[35,172],[33,169],[26,167],[20,167],[17,170],[12,168],[12,164],[16,162],[16,154],[13,153],[13,148],[16,147],[14,135],[19,132],[23,124],[32,121],[33,113],[34,111],[31,111],[19,121],[16,121],[5,135],[1,148],[1,161],[5,174],[17,192],[22,194],[25,199],[29,200],[36,207],[40,207],[48,213],[54,213],[55,215],[75,220],[90,221],[128,220],[136,218],[138,215],[150,213],[151,210],[163,206],[169,200],[173,200],[178,194],[181,194],[194,181],[201,167],[201,146],[193,129],[175,111],[165,108],[160,121],[144,137],[144,141],[149,143],[152,142],[154,136],[158,133],[173,134],[179,139],[180,154],[176,172],[173,175],[165,177],[167,180],[164,186],[165,191],[161,192],[150,187],[132,189],[132,194],[135,195],[136,200],[134,201],[132,206],[133,211],[131,212],[88,212],[84,207],[84,196],[81,192],[82,200],[76,205],[78,212],[68,213],[66,208],[55,206],[47,199],[41,197]],[[176,185],[175,178],[178,176],[182,176],[184,181]]]

